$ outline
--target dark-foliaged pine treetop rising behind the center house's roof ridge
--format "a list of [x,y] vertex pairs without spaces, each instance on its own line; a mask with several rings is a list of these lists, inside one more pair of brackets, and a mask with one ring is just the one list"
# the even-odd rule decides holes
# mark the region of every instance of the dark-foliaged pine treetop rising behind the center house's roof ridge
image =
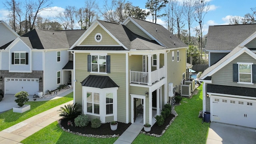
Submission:
[[168,3],[168,0],[148,0],[146,2],[146,8],[148,8],[150,14],[153,17],[153,22],[155,20],[156,23],[156,18],[157,17],[162,17],[165,14],[159,14],[160,10],[166,6]]

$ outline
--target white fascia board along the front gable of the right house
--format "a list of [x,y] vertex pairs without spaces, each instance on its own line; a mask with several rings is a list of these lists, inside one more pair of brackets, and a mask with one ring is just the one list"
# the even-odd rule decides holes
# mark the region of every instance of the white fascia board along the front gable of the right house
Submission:
[[251,50],[249,50],[248,48],[244,47],[242,48],[240,51],[236,52],[236,54],[234,54],[233,56],[231,56],[230,58],[228,58],[226,61],[224,61],[222,64],[220,64],[219,66],[217,66],[216,68],[214,68],[214,70],[212,70],[211,72],[209,72],[208,74],[206,74],[204,77],[202,77],[202,79],[206,78],[207,76],[212,76],[215,72],[217,72],[218,70],[220,70],[221,68],[223,68],[224,66],[226,66],[227,64],[229,64],[232,60],[234,60],[235,58],[237,58],[238,56],[240,56],[243,53],[247,53],[248,55],[250,55],[252,58],[256,59],[256,54],[254,54]]

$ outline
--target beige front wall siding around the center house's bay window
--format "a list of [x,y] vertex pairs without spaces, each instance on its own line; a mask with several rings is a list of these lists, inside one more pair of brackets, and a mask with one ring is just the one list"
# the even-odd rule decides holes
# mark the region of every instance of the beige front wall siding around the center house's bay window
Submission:
[[[75,53],[76,58],[76,102],[82,104],[82,85],[80,82],[84,80],[90,72],[87,72],[87,56],[89,53]],[[118,86],[117,102],[118,102],[118,121],[126,122],[126,59],[125,54],[108,54],[110,55],[110,74],[96,74],[109,76]]]

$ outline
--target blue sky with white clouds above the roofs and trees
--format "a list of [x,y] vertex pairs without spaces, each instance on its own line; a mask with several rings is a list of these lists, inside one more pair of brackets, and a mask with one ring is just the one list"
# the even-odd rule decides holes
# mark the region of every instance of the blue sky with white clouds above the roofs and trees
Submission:
[[[5,1],[5,0],[3,0]],[[21,0],[25,1],[25,0]],[[109,0],[110,1],[110,0]],[[134,6],[139,6],[142,9],[145,8],[145,4],[147,0],[126,0],[132,2]],[[182,0],[178,0],[182,1]],[[63,11],[66,6],[75,6],[76,8],[80,8],[84,6],[85,0],[52,0],[51,7],[56,9],[56,11],[52,11],[51,13],[42,12],[41,16],[47,18],[48,16],[56,15],[57,11]],[[243,17],[247,13],[252,13],[250,8],[256,7],[256,0],[208,0],[210,2],[210,10],[206,14],[204,18],[203,25],[203,34],[207,34],[209,25],[224,25],[229,24],[230,16],[241,16]],[[96,0],[96,3],[102,5],[103,0]],[[7,21],[8,11],[2,4],[0,3],[0,20]],[[152,20],[152,18],[147,18],[147,20]],[[7,23],[7,22],[6,22]],[[164,18],[157,19],[158,24],[164,24]],[[192,27],[198,26],[198,23],[194,21]],[[185,26],[186,29],[186,26]]]

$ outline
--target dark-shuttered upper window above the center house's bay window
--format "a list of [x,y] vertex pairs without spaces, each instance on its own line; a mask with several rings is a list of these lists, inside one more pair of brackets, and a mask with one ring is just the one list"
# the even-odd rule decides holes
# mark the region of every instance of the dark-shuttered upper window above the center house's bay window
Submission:
[[110,73],[110,56],[88,55],[88,72]]

